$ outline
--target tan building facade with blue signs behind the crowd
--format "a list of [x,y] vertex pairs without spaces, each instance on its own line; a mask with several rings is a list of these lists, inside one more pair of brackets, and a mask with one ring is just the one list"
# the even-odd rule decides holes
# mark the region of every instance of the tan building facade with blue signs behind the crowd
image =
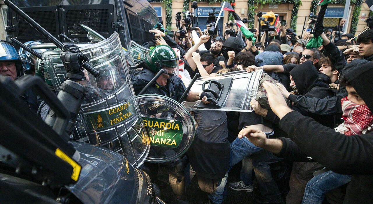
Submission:
[[[318,13],[320,7],[317,6],[317,0],[260,0],[260,3],[270,2],[264,4],[258,4],[258,0],[231,0],[235,3],[234,9],[241,19],[253,18],[252,23],[254,28],[258,27],[257,15],[259,11],[269,12],[272,11],[279,15],[280,20],[286,20],[287,28],[293,28],[297,31],[297,35],[301,35],[304,23],[307,24],[310,13]],[[279,2],[273,4],[273,2]],[[210,7],[220,7],[222,1],[200,1],[198,2],[198,14],[199,21],[198,27],[206,28],[206,11]],[[286,2],[286,3],[285,3]],[[339,20],[343,17],[345,0],[335,0],[335,3],[328,5],[328,9],[324,18],[324,26],[326,28],[332,28],[339,23]],[[163,21],[163,25],[167,28],[171,28],[176,31],[175,16],[177,12],[183,12],[191,9],[192,1],[189,0],[150,0],[150,3],[159,8],[159,18]],[[157,10],[157,9],[156,9]],[[167,11],[166,11],[167,10]],[[212,9],[210,9],[212,11]],[[195,13],[195,12],[194,12]],[[364,22],[369,17],[369,7],[366,3],[362,3],[362,0],[351,0],[350,8],[348,11],[347,24],[345,26],[345,32],[359,34],[366,27]],[[228,21],[228,12],[223,12],[223,22]],[[168,17],[168,19],[167,19]],[[223,23],[221,22],[221,23]],[[252,25],[249,23],[248,27]],[[307,25],[305,25],[307,26]],[[222,28],[223,29],[223,28]],[[222,30],[224,32],[224,29]]]

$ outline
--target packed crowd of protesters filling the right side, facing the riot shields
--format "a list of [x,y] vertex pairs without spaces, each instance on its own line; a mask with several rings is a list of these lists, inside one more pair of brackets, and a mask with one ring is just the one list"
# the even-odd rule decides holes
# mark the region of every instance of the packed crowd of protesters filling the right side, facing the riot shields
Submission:
[[[154,39],[143,46],[151,51],[138,66],[141,73],[131,75],[136,93],[162,69],[165,72],[145,93],[175,101],[197,73],[206,77],[262,69],[268,79],[260,86],[269,106],[253,98],[253,112],[192,113],[198,124],[195,141],[186,156],[167,163],[175,203],[188,203],[185,188],[194,175],[209,193],[209,203],[215,204],[229,196],[228,187],[253,191],[254,177],[261,194],[257,203],[373,203],[373,30],[354,39],[341,33],[344,22],[341,19],[336,29],[322,32],[319,47],[308,46],[311,32],[292,39],[280,22],[268,41],[256,29],[257,42],[245,38],[238,28],[232,28],[234,35],[224,36],[210,34],[209,28],[191,31],[183,20],[187,32],[182,37],[179,31],[170,36],[162,29],[150,30]],[[75,48],[64,47],[66,77],[84,80],[80,65],[71,63],[70,52],[81,56]],[[0,61],[0,73],[15,80],[22,73],[21,63],[21,59]],[[185,100],[208,104],[209,97],[206,92],[189,92]],[[35,100],[28,103],[36,112]],[[292,163],[285,200],[270,168],[283,160]],[[229,170],[239,162],[240,181],[227,184]],[[156,181],[156,175],[150,174]]]

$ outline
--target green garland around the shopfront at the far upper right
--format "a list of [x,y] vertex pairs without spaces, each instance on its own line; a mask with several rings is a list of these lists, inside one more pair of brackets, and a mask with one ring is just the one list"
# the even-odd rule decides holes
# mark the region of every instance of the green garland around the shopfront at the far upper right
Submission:
[[[346,4],[346,0],[330,0],[330,1],[332,1],[332,4]],[[318,0],[313,0],[311,2],[310,12],[314,14],[317,11],[317,2]],[[363,0],[351,0],[350,1],[350,5],[355,5],[354,11],[352,12],[352,18],[351,18],[351,28],[350,28],[351,34],[355,34],[356,32],[357,23],[359,22],[359,15],[360,15],[362,3],[363,3]]]

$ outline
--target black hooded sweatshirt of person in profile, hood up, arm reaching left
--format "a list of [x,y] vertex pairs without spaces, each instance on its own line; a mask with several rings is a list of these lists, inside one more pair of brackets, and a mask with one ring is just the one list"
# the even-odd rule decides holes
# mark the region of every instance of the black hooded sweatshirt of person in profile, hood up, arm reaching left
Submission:
[[[294,67],[289,73],[291,74],[300,95],[320,99],[334,95],[334,91],[330,89],[326,83],[319,81],[319,73],[310,60]],[[289,95],[290,101],[294,102],[296,99],[296,95]],[[314,114],[301,108],[297,104],[295,104],[292,109],[300,112],[304,116],[309,116],[328,127],[333,127],[334,125],[333,115]]]

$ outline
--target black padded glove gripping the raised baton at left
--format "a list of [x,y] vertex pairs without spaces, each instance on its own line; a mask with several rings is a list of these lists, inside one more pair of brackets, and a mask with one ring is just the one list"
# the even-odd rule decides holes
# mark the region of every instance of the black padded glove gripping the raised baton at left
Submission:
[[66,69],[66,79],[72,81],[86,80],[83,74],[82,61],[90,61],[78,46],[65,44],[62,47],[60,58]]

